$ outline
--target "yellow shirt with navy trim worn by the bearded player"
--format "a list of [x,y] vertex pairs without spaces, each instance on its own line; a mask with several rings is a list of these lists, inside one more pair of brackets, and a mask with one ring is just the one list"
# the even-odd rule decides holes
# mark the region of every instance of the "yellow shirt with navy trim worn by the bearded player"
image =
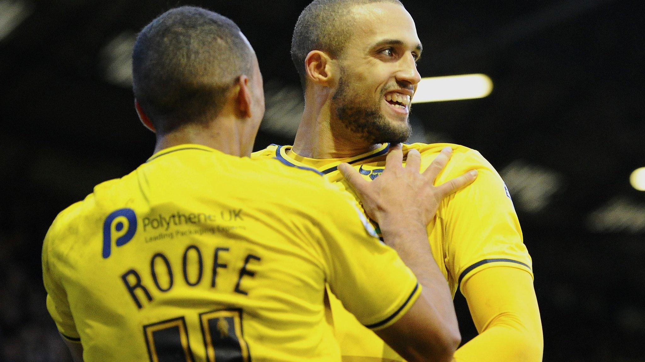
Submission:
[[[489,267],[504,265],[531,271],[531,258],[522,242],[513,202],[497,171],[479,152],[456,144],[404,144],[404,155],[410,149],[421,153],[424,170],[441,149],[450,146],[453,155],[435,184],[455,178],[470,169],[479,175],[473,184],[444,199],[437,216],[428,225],[428,242],[454,296],[459,285],[470,276]],[[252,158],[275,157],[285,164],[312,167],[323,173],[337,187],[353,194],[337,166],[348,162],[366,180],[379,176],[385,165],[390,145],[382,144],[370,152],[350,158],[313,159],[296,155],[291,146],[272,145],[253,153]],[[358,204],[358,201],[356,201]],[[377,227],[377,225],[375,225]],[[343,361],[403,361],[372,331],[362,327],[343,303],[330,296],[335,336],[341,345]]]

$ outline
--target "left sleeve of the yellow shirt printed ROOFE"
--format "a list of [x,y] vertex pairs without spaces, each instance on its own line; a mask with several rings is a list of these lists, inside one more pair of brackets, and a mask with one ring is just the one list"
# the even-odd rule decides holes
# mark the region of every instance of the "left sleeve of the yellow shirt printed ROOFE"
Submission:
[[42,262],[43,281],[47,291],[47,310],[52,316],[52,319],[54,319],[56,327],[61,335],[70,341],[79,342],[81,341],[81,338],[79,336],[79,332],[76,330],[74,318],[72,318],[67,294],[59,280],[60,276],[55,269],[55,263],[50,260],[50,243],[55,242],[56,236],[59,233],[58,226],[61,224],[61,220],[66,218],[67,214],[70,210],[74,209],[74,207],[75,205],[72,205],[59,214],[47,232],[45,242],[43,242]]

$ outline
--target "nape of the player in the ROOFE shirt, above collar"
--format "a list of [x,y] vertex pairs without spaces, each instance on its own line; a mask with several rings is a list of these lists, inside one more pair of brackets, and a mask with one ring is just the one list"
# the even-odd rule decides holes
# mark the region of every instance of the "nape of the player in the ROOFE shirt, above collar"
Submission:
[[253,140],[245,140],[245,132],[235,126],[235,120],[221,120],[208,125],[186,126],[164,135],[157,134],[155,153],[181,144],[201,144],[217,149],[227,155],[250,157],[251,149],[248,144]]

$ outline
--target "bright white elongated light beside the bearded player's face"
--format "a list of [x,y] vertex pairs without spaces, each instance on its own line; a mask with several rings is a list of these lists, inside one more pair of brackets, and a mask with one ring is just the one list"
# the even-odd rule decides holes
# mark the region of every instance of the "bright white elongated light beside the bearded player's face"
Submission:
[[422,78],[412,103],[477,99],[486,97],[492,90],[493,81],[486,74]]

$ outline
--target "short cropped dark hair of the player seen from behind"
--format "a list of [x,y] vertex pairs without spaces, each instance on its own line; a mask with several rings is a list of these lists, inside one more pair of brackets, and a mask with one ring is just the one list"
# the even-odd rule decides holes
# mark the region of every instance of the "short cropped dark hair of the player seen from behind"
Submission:
[[132,89],[158,133],[204,124],[240,75],[252,75],[253,50],[227,17],[195,6],[168,10],[137,36]]

